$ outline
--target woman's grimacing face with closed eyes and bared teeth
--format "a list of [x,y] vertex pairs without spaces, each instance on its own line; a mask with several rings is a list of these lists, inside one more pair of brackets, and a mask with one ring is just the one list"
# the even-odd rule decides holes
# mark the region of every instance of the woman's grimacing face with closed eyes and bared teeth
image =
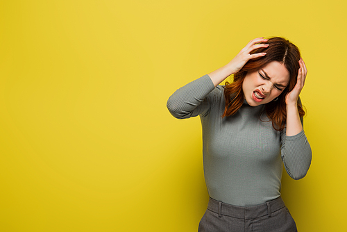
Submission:
[[248,105],[259,106],[278,97],[289,84],[285,65],[273,61],[255,72],[248,72],[242,83],[244,99]]

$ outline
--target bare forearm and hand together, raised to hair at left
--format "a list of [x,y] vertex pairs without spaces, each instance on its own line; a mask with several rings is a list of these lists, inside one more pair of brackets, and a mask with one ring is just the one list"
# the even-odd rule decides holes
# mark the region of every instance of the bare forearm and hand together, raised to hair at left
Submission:
[[225,78],[230,76],[231,74],[235,74],[239,72],[244,65],[246,65],[248,60],[258,58],[260,56],[265,56],[266,53],[254,53],[250,54],[251,51],[255,49],[259,49],[260,47],[269,47],[269,44],[257,44],[260,42],[267,42],[268,40],[264,39],[264,37],[261,38],[255,38],[254,40],[251,40],[248,42],[246,47],[244,47],[238,54],[233,58],[227,65],[224,65],[223,67],[215,70],[214,72],[211,72],[208,74],[210,76],[214,86],[219,85]]

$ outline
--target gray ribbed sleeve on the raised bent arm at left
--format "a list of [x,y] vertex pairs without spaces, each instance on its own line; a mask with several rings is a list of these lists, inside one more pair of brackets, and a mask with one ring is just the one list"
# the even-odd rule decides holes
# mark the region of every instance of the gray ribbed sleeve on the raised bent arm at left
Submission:
[[169,97],[167,108],[171,115],[178,119],[206,114],[210,110],[211,104],[205,98],[212,90],[214,90],[214,85],[210,76],[206,74],[176,90]]

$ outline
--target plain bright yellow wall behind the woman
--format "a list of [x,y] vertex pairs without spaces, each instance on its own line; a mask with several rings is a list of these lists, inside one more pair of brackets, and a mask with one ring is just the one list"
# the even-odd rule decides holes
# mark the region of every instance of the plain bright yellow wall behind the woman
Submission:
[[307,176],[284,172],[299,231],[346,219],[346,1],[0,1],[0,231],[197,231],[200,120],[166,108],[247,42],[308,67]]

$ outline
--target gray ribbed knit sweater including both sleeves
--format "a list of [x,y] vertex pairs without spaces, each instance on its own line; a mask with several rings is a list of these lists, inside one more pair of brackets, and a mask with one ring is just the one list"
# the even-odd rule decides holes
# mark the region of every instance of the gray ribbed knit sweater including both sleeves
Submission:
[[[282,162],[291,178],[301,179],[312,152],[304,131],[287,136],[276,131],[264,105],[246,100],[230,117],[222,118],[224,88],[214,88],[205,75],[176,90],[167,101],[174,117],[200,115],[203,126],[203,169],[213,199],[235,206],[255,206],[280,196]],[[282,161],[281,161],[282,160]]]

